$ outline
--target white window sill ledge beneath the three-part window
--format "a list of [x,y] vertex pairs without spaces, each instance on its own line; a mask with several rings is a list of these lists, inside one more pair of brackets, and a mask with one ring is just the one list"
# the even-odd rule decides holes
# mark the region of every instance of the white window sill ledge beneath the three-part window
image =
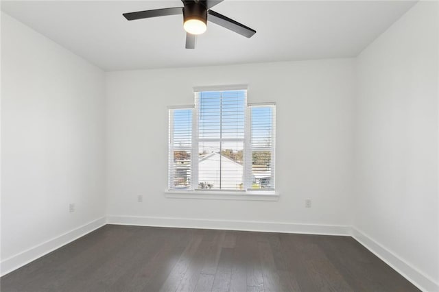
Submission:
[[278,201],[279,195],[275,191],[180,191],[167,190],[165,197],[172,199],[219,199],[238,201]]

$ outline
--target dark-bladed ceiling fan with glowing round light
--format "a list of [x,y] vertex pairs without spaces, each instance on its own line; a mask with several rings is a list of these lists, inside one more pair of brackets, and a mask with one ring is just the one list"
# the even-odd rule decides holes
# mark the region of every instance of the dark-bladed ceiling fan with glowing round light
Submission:
[[195,49],[195,40],[198,34],[206,32],[207,21],[211,21],[237,34],[250,38],[256,34],[256,30],[247,27],[227,16],[211,10],[211,8],[223,0],[181,0],[183,7],[162,8],[137,12],[123,13],[128,21],[136,19],[149,19],[158,16],[183,14],[183,27],[186,34],[186,49]]

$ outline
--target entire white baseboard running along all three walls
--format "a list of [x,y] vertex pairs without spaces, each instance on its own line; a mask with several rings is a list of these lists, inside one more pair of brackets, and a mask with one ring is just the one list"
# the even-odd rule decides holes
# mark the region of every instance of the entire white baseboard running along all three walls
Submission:
[[300,224],[300,223],[281,223],[281,222],[261,222],[261,221],[228,221],[228,220],[209,220],[209,219],[182,219],[167,217],[139,217],[139,216],[115,216],[102,217],[95,221],[80,226],[75,230],[66,232],[54,239],[36,245],[35,247],[6,258],[0,263],[0,275],[3,276],[27,263],[52,252],[75,239],[96,230],[104,225],[132,225],[132,226],[157,226],[169,228],[201,228],[216,230],[243,230],[259,232],[282,232],[298,234],[322,234],[353,236],[361,245],[364,245],[370,252],[381,258],[393,269],[401,273],[403,277],[412,282],[422,291],[439,291],[439,284],[426,276],[423,272],[414,268],[412,265],[396,256],[383,245],[379,244],[370,236],[364,234],[355,227],[320,225],[320,224]]

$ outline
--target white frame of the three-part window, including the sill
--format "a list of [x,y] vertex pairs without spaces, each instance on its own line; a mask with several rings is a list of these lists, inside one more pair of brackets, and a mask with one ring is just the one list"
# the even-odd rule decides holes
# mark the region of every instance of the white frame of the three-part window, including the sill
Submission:
[[[243,149],[244,149],[244,163],[243,163],[243,190],[224,190],[224,189],[213,189],[206,190],[198,188],[198,152],[199,152],[199,131],[198,128],[198,111],[197,107],[200,102],[199,93],[203,91],[234,91],[234,90],[246,90],[245,101],[244,101],[244,139]],[[193,95],[195,104],[190,106],[169,106],[169,125],[168,125],[168,163],[171,162],[171,149],[175,151],[174,147],[171,147],[171,135],[173,122],[173,114],[171,110],[192,110],[192,126],[191,126],[191,183],[190,188],[172,188],[171,187],[171,166],[168,165],[168,182],[167,189],[165,190],[165,197],[170,198],[188,198],[188,199],[233,199],[233,200],[257,200],[257,201],[277,201],[279,194],[276,191],[275,184],[275,156],[276,156],[276,104],[274,102],[262,102],[262,103],[248,103],[248,86],[243,84],[230,85],[230,86],[203,86],[194,87]],[[261,188],[252,189],[252,181],[250,180],[252,176],[252,145],[251,145],[251,134],[252,134],[252,108],[253,107],[272,107],[272,146],[271,151],[271,165],[270,170],[272,171],[272,188]],[[203,140],[203,139],[201,139]],[[240,139],[239,139],[240,140]],[[216,140],[215,140],[216,141]],[[222,139],[218,139],[221,143]],[[268,147],[267,147],[268,149]],[[172,154],[174,156],[174,154]]]

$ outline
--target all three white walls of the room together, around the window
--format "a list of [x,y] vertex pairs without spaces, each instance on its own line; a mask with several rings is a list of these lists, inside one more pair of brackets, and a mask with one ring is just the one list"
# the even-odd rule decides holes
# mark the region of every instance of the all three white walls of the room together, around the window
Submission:
[[[106,214],[158,224],[216,220],[215,227],[353,223],[357,238],[402,260],[411,270],[396,268],[434,290],[437,13],[437,3],[418,3],[357,60],[105,75],[2,13],[2,269]],[[249,102],[277,104],[278,202],[165,197],[167,106],[193,104],[193,86],[224,84],[248,84]],[[71,202],[76,212],[68,212]]]

